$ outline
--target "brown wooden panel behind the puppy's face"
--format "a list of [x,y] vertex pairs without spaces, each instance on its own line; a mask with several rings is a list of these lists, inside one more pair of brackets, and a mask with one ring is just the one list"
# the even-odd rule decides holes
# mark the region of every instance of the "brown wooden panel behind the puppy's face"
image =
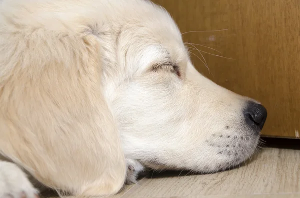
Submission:
[[[300,131],[299,0],[153,0],[164,6],[194,45],[195,67],[214,82],[260,101],[268,110],[266,136]],[[209,31],[220,30],[223,31]],[[206,31],[206,32],[205,32]],[[194,48],[192,45],[189,47]],[[233,58],[226,59],[208,53]]]

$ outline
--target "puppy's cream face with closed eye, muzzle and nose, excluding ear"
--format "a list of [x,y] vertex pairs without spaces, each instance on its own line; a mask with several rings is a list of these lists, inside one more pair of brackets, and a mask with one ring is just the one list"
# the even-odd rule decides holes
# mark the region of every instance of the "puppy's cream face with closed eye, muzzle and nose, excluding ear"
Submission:
[[104,69],[103,83],[126,157],[153,169],[196,172],[247,159],[258,144],[265,108],[201,75],[170,15],[133,1],[114,19],[110,48],[117,70]]

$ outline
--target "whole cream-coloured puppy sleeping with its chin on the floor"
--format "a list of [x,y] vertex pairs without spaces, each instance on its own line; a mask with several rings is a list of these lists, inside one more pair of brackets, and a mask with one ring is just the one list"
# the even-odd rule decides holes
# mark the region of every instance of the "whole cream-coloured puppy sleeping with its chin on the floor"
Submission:
[[266,109],[201,75],[162,7],[0,4],[1,198],[36,197],[27,175],[110,196],[145,168],[213,173],[253,154]]

